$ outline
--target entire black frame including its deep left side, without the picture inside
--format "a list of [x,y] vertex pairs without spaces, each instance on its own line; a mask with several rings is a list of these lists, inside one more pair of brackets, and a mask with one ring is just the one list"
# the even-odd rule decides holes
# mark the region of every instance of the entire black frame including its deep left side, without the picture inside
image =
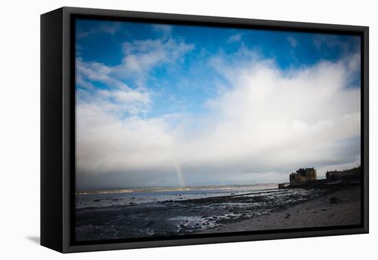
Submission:
[[[75,243],[76,18],[353,34],[362,42],[362,225]],[[41,245],[59,252],[116,250],[368,233],[368,27],[63,7],[41,15]]]

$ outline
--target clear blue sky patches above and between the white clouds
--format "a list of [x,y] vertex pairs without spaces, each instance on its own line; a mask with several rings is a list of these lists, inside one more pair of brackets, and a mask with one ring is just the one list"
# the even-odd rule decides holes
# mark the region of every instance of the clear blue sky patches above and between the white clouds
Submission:
[[[201,104],[216,96],[216,84],[224,80],[210,65],[215,54],[234,54],[244,46],[265,58],[274,58],[281,69],[289,69],[321,60],[337,61],[345,54],[359,50],[358,36],[186,25],[171,25],[170,28],[173,39],[181,39],[194,47],[174,65],[157,65],[149,72],[145,87],[152,89],[156,98],[148,117],[174,113],[177,109],[201,113]],[[85,32],[93,33],[82,36]],[[78,57],[116,66],[124,58],[122,45],[125,42],[160,39],[164,37],[164,31],[148,23],[78,20],[76,35]],[[133,77],[122,80],[131,88],[137,87]],[[98,81],[91,83],[99,88],[112,87]]]

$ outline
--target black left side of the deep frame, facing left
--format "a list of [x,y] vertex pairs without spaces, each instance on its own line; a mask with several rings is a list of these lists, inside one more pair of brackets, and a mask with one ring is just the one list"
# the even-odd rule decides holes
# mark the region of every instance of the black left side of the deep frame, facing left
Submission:
[[41,15],[41,245],[63,251],[62,14]]

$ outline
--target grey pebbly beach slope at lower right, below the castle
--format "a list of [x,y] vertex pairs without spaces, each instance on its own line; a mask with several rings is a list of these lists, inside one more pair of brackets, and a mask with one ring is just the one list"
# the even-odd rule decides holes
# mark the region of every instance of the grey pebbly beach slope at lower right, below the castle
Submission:
[[342,188],[267,215],[234,221],[223,226],[203,230],[199,234],[213,232],[241,232],[278,230],[287,228],[314,228],[324,226],[348,226],[361,223],[361,189],[359,186]]

